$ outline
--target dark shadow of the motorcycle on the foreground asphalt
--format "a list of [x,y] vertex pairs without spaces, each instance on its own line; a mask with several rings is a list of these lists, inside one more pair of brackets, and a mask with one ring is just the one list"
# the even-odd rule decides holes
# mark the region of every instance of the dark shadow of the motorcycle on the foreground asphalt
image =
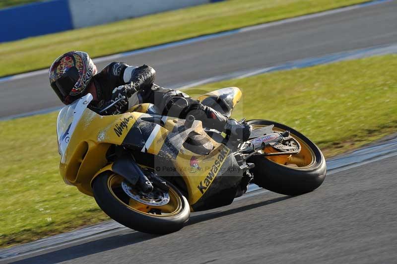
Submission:
[[[206,220],[215,219],[222,216],[227,216],[239,212],[243,212],[245,210],[250,210],[254,208],[258,208],[261,206],[265,206],[267,204],[275,203],[278,201],[282,201],[285,199],[291,198],[289,196],[283,196],[279,198],[273,198],[261,202],[257,202],[254,204],[249,204],[237,208],[232,208],[226,211],[216,211],[209,212],[200,215],[192,216],[187,223],[187,226],[194,225]],[[45,253],[43,255],[38,255],[35,257],[27,258],[24,260],[20,260],[14,263],[17,264],[43,264],[43,263],[60,263],[64,261],[69,261],[85,256],[89,256],[92,254],[96,254],[99,252],[105,252],[109,250],[113,250],[120,247],[125,247],[129,245],[133,245],[136,243],[140,243],[146,240],[150,240],[153,238],[159,237],[159,235],[151,235],[141,232],[132,231],[128,234],[118,234],[113,235],[111,237],[106,237],[94,241],[89,241],[80,245],[71,246],[68,248],[59,249],[53,252]]]

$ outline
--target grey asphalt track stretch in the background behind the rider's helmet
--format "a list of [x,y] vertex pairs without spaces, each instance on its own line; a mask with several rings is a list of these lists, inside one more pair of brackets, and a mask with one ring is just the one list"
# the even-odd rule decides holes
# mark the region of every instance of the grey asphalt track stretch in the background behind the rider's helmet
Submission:
[[[239,70],[397,43],[397,1],[242,31],[123,59],[156,68],[165,87]],[[132,40],[133,41],[133,40]],[[98,68],[110,63],[101,62]],[[233,86],[233,83],[230,83]],[[0,118],[61,106],[47,74],[0,82]]]

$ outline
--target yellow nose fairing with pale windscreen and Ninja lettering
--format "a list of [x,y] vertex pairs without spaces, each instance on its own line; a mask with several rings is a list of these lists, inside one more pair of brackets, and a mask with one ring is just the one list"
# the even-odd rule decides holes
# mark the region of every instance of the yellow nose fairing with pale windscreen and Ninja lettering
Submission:
[[[69,120],[66,132],[58,129],[61,154],[60,174],[66,184],[74,185],[86,195],[92,196],[91,178],[107,165],[106,152],[112,144],[122,144],[125,135],[142,113],[125,113],[118,116],[101,116],[88,108],[92,96],[89,94],[70,106],[64,107],[58,115],[58,127],[66,117],[80,114],[78,120]],[[79,111],[81,113],[79,113]],[[73,113],[73,114],[72,114]],[[73,128],[74,125],[74,128]],[[73,129],[70,132],[70,129]],[[66,145],[66,147],[63,147]]]

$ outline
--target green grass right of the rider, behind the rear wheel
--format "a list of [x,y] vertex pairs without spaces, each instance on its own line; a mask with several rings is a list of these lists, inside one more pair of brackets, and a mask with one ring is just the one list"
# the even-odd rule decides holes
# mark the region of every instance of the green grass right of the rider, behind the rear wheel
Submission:
[[[236,119],[262,118],[303,132],[326,157],[397,132],[397,55],[206,84],[243,91]],[[214,88],[210,88],[214,87]]]

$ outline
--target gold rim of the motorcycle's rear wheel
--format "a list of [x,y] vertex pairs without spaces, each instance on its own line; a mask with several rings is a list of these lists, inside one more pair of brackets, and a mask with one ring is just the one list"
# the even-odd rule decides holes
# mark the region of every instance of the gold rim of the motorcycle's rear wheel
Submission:
[[[252,129],[259,129],[266,127],[266,125],[252,125]],[[284,132],[285,130],[273,127],[274,132]],[[296,139],[301,145],[301,151],[297,154],[291,155],[275,155],[275,156],[264,156],[266,159],[275,162],[279,165],[294,168],[294,169],[307,169],[312,167],[316,163],[316,155],[313,149],[299,136],[290,133],[290,135]],[[271,146],[265,147],[265,153],[277,152],[277,150]]]

